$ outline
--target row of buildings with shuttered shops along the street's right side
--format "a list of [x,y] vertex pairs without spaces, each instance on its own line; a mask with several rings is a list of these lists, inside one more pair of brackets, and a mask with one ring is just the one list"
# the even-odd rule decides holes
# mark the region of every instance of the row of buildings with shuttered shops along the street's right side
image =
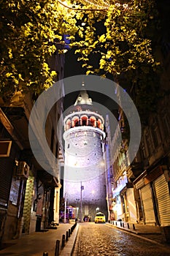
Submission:
[[[155,110],[142,116],[142,138],[139,151],[131,164],[125,148],[123,130],[117,129],[112,138],[114,167],[113,211],[115,219],[139,222],[143,225],[158,225],[165,230],[170,225],[170,43],[169,3],[159,3],[162,30],[157,42],[157,57],[162,70],[158,77],[158,91],[161,95],[155,102]],[[149,85],[148,85],[149,86]],[[131,91],[135,100],[136,93]],[[125,124],[120,110],[119,126]],[[122,123],[121,123],[122,122]],[[123,124],[123,127],[126,125]],[[125,129],[125,128],[123,128]],[[120,133],[118,135],[118,133]],[[118,138],[121,138],[120,140]],[[123,186],[123,188],[121,188]],[[129,187],[130,186],[130,187]],[[168,231],[169,232],[169,231]],[[170,241],[170,238],[167,238]]]

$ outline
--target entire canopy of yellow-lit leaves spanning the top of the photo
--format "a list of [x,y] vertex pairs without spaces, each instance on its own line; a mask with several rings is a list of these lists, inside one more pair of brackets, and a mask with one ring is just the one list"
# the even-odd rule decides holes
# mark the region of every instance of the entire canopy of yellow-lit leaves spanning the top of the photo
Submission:
[[51,86],[56,74],[47,58],[59,53],[56,42],[63,43],[63,34],[69,34],[70,46],[77,49],[87,74],[112,74],[120,85],[135,87],[140,106],[154,105],[160,64],[155,55],[159,29],[155,1],[68,0],[67,4],[0,1],[0,93],[28,88],[40,92]]

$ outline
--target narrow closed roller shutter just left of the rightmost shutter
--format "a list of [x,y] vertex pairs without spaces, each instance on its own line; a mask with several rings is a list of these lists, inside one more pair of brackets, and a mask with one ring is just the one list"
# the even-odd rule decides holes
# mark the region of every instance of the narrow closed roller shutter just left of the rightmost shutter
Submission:
[[152,191],[150,188],[150,184],[147,184],[141,189],[141,194],[144,211],[144,222],[145,224],[155,223],[155,213],[152,203]]

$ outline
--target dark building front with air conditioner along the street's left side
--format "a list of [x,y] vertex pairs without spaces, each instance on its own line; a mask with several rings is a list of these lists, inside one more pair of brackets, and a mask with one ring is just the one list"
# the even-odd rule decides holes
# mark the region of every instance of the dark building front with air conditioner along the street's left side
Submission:
[[[63,78],[64,57],[55,54],[50,68]],[[63,152],[58,142],[57,124],[62,116],[63,84],[58,88],[60,101],[46,120],[46,140],[58,159],[55,175],[47,173],[36,161],[28,138],[28,124],[34,94],[17,91],[8,100],[0,99],[0,241],[42,230],[59,222],[60,168]],[[42,103],[43,104],[43,103]],[[39,126],[36,127],[39,132]],[[43,136],[40,135],[43,140]],[[37,139],[41,151],[42,141]],[[6,143],[6,144],[5,144]],[[45,156],[47,158],[47,156]]]

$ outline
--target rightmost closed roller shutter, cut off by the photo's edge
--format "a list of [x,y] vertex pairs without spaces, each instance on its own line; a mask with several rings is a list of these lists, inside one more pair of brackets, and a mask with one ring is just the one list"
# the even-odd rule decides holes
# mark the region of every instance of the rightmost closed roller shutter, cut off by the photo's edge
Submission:
[[161,226],[170,225],[170,195],[165,176],[161,175],[154,184],[160,224]]

